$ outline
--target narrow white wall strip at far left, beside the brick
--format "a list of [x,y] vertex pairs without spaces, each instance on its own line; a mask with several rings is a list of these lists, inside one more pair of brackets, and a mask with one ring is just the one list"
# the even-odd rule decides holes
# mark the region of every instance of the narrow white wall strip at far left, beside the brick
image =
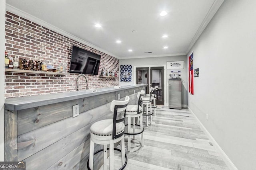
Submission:
[[4,161],[4,43],[5,0],[0,0],[0,161]]

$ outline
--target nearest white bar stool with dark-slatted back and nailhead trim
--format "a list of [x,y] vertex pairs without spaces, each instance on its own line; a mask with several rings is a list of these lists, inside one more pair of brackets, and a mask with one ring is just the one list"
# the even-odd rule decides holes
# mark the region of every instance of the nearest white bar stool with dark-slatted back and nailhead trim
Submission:
[[[109,167],[114,169],[114,150],[118,150],[122,155],[122,167],[124,169],[127,164],[127,156],[124,149],[124,119],[126,116],[126,107],[130,100],[129,96],[125,97],[124,101],[113,100],[110,104],[110,111],[114,112],[113,119],[97,121],[90,127],[90,154],[87,161],[88,170],[93,169],[93,156],[98,152],[104,151],[104,170],[106,170],[107,150],[109,149]],[[124,117],[117,119],[117,113],[123,112]],[[114,148],[114,143],[121,141],[121,150]],[[94,143],[104,145],[104,149],[94,152]],[[107,145],[110,145],[107,148]]]

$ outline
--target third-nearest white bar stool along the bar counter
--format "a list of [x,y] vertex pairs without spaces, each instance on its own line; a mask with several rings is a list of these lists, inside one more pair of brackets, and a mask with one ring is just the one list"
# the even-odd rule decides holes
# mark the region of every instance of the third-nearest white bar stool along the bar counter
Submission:
[[[150,94],[152,94],[154,92],[154,88],[150,87]],[[146,116],[146,126],[148,126],[148,116],[150,116],[150,124],[152,123],[152,107],[151,107],[151,103],[152,103],[152,96],[149,95],[146,97],[141,98],[142,100],[142,115]],[[145,106],[144,106],[145,105]],[[144,111],[144,107],[146,107],[146,111]],[[150,111],[148,111],[148,108],[150,109]]]

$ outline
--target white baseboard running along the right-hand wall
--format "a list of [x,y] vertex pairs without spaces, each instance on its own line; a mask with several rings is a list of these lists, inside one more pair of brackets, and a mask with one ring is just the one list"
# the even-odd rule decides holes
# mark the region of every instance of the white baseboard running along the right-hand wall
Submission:
[[[196,117],[195,113],[190,109],[190,107],[188,106],[188,109],[191,111],[191,113]],[[230,158],[228,158],[228,156],[226,155],[226,153],[221,149],[220,145],[218,145],[218,143],[214,140],[214,138],[212,137],[212,135],[208,132],[208,130],[204,127],[204,125],[201,123],[201,121],[198,119],[198,117],[196,117],[196,119],[198,120],[198,122],[200,123],[200,126],[202,127],[202,129],[204,130],[204,132],[210,137],[215,149],[221,153],[221,157],[224,160],[224,162],[226,162],[228,168],[230,170],[238,170],[236,168],[236,166],[233,164],[233,162],[230,160]]]

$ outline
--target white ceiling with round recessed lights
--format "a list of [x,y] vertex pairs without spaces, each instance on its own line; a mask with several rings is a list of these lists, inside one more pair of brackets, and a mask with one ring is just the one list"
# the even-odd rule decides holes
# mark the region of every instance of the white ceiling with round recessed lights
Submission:
[[[6,10],[24,12],[20,15],[31,15],[43,26],[50,24],[53,30],[57,27],[96,49],[127,59],[186,55],[223,1],[6,0]],[[162,10],[168,14],[160,16]],[[96,23],[102,27],[96,28]],[[164,34],[168,37],[162,38]],[[152,53],[144,53],[148,51]]]

